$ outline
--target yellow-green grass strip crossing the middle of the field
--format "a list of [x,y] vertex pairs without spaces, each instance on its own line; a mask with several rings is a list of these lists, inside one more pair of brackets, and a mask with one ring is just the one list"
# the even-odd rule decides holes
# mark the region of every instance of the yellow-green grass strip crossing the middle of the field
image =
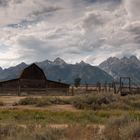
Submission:
[[104,124],[112,116],[128,114],[132,119],[140,121],[139,111],[99,110],[80,112],[53,112],[45,110],[0,110],[0,123],[15,124]]

